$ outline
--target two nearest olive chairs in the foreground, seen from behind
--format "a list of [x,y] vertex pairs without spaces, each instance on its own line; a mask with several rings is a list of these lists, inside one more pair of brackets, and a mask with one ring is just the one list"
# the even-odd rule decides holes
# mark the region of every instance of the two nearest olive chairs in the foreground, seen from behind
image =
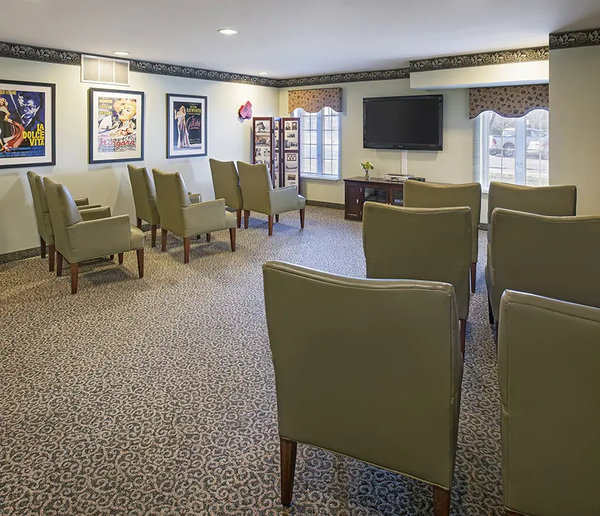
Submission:
[[[462,384],[456,289],[276,262],[263,277],[283,505],[300,442],[429,483],[435,516],[449,516]],[[290,292],[305,301],[294,313]],[[506,515],[598,515],[600,309],[506,290],[499,310]],[[376,335],[365,323],[374,320]]]

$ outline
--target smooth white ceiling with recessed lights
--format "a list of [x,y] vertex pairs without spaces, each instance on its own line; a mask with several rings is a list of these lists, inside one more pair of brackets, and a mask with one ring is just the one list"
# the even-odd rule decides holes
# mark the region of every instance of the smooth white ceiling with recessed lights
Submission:
[[0,20],[7,42],[287,78],[546,45],[600,26],[600,1],[21,0]]

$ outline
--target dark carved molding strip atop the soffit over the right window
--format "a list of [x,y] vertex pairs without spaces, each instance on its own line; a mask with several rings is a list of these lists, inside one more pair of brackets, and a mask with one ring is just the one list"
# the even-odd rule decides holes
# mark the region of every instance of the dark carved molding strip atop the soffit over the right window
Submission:
[[504,50],[500,52],[469,53],[462,56],[445,56],[432,59],[410,61],[410,72],[428,72],[451,68],[466,68],[486,65],[505,65],[506,63],[526,63],[550,58],[548,47],[533,49]]

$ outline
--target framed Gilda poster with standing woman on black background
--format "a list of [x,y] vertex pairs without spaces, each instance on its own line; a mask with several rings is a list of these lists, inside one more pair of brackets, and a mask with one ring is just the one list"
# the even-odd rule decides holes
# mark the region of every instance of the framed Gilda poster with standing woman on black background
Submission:
[[206,97],[167,93],[167,158],[206,156]]

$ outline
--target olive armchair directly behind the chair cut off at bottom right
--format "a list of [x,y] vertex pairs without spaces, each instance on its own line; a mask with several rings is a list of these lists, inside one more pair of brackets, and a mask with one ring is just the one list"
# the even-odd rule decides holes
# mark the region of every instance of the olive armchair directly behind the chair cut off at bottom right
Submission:
[[545,217],[496,208],[487,244],[490,324],[505,290],[600,308],[600,215]]

